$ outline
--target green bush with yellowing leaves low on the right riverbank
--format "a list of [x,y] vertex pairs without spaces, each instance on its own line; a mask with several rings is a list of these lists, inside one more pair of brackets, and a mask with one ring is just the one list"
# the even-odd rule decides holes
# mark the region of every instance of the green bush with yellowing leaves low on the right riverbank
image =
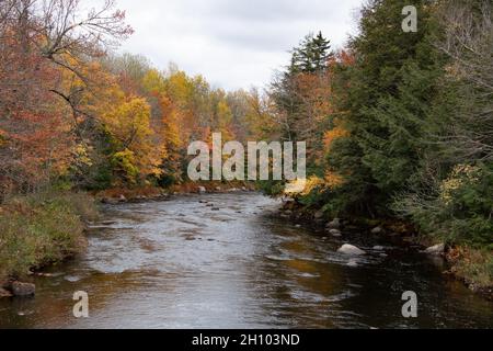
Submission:
[[493,163],[457,166],[435,196],[409,196],[395,207],[438,240],[493,250]]

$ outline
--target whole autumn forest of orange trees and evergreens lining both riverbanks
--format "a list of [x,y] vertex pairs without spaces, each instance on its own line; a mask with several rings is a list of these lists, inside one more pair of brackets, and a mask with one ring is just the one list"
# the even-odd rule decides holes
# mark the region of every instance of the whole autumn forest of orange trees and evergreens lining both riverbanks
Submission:
[[190,189],[188,145],[221,133],[306,140],[299,208],[404,223],[491,287],[493,5],[412,2],[417,32],[409,1],[370,0],[344,47],[314,31],[267,89],[226,91],[119,53],[133,29],[113,0],[1,0],[0,281],[82,250],[95,194]]

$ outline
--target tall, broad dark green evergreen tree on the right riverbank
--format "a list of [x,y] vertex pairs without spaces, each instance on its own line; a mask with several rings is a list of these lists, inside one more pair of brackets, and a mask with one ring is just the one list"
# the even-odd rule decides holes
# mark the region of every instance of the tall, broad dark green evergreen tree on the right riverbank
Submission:
[[335,170],[352,174],[345,206],[371,215],[387,214],[392,196],[417,172],[420,138],[443,73],[431,41],[432,8],[417,1],[420,31],[404,33],[405,5],[374,0],[363,9],[360,34],[349,44],[356,63],[343,106],[351,137],[336,143],[329,157]]

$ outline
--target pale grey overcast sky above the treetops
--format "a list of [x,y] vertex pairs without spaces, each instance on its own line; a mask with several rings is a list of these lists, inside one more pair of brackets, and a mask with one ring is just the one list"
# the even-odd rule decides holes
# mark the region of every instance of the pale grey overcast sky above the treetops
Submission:
[[363,0],[117,0],[135,34],[122,50],[175,63],[217,88],[264,87],[293,46],[322,31],[339,47]]

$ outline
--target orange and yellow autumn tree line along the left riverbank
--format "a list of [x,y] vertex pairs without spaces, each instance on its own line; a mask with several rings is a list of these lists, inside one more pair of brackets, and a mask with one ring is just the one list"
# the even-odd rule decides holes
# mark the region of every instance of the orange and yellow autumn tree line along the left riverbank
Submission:
[[255,91],[228,93],[173,65],[112,54],[131,32],[113,0],[92,10],[0,2],[2,196],[180,183],[192,140],[245,140],[260,127],[266,102]]

